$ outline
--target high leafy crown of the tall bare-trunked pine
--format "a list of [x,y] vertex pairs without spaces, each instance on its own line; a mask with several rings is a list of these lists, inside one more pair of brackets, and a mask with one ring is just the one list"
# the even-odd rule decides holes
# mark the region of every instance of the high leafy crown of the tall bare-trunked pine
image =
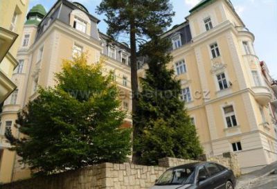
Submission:
[[132,24],[138,37],[161,34],[175,14],[169,0],[102,0],[98,13],[105,13],[107,34],[113,37],[130,33]]

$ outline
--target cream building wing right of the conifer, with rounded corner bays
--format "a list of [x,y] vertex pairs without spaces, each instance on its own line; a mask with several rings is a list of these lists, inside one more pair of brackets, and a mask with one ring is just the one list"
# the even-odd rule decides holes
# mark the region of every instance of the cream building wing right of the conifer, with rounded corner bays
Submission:
[[162,37],[206,154],[235,152],[242,172],[277,161],[276,82],[231,1],[201,1]]

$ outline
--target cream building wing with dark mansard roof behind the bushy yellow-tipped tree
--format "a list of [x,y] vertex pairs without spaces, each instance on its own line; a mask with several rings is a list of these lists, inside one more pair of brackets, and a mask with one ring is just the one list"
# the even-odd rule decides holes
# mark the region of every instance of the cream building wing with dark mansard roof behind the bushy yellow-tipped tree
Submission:
[[[17,89],[4,102],[0,114],[1,135],[6,129],[12,129],[12,133],[19,136],[14,126],[17,112],[37,97],[37,86],[55,85],[54,73],[61,71],[62,60],[71,60],[75,53],[87,53],[90,64],[97,63],[100,58],[104,60],[103,73],[114,73],[122,108],[131,111],[129,48],[126,44],[110,41],[107,35],[100,33],[98,22],[82,4],[67,0],[57,0],[48,12],[42,5],[30,9],[17,52],[19,66],[12,75]],[[131,125],[132,120],[128,116],[123,127]],[[30,177],[30,170],[19,163],[19,156],[6,150],[10,145],[4,140],[0,145],[4,149],[0,181]]]

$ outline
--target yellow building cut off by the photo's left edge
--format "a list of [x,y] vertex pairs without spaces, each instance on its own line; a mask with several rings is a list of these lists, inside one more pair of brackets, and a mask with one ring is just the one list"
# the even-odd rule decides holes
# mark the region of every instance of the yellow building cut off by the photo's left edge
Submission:
[[[29,0],[0,1],[0,112],[3,110],[3,101],[17,90],[17,84],[11,78],[18,64],[17,50],[21,42],[28,2]],[[12,167],[10,163],[3,163],[2,160],[10,159],[15,153],[5,150],[5,128],[2,123],[0,120],[0,182],[5,182],[10,181],[8,175]]]

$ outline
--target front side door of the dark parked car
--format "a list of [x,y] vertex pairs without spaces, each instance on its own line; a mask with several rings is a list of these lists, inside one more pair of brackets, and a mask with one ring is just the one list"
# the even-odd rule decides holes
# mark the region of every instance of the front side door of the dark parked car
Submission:
[[[206,177],[204,181],[199,181],[200,177]],[[213,181],[211,181],[210,175],[204,165],[198,168],[197,172],[197,189],[214,189]]]

